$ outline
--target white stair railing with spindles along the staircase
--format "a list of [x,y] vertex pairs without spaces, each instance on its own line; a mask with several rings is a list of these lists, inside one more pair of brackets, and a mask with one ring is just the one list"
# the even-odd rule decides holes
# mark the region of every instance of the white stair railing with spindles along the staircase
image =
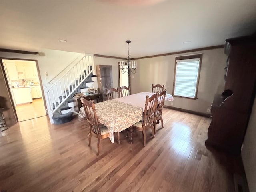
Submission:
[[50,88],[47,88],[46,86],[44,87],[44,91],[47,95],[46,102],[48,103],[47,108],[50,120],[53,113],[93,72],[93,65],[93,55],[86,54],[73,67],[71,67],[70,70],[56,80]]

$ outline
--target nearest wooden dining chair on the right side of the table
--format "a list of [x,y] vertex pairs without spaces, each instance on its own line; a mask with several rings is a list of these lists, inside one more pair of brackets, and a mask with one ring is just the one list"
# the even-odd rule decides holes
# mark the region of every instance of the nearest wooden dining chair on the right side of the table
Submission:
[[154,134],[154,115],[156,112],[156,105],[158,101],[158,93],[152,95],[150,98],[148,95],[146,96],[146,102],[145,102],[145,110],[143,112],[143,120],[135,123],[132,125],[132,129],[136,129],[138,131],[141,131],[144,138],[144,147],[146,146],[146,130],[151,128],[152,130],[152,136],[155,138]]

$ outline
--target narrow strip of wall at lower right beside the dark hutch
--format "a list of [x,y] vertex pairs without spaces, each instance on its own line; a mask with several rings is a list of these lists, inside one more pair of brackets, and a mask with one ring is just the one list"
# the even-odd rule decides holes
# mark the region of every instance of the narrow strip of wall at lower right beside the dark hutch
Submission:
[[246,135],[244,137],[244,146],[242,148],[242,160],[248,186],[251,192],[256,191],[256,99],[252,107],[252,113],[248,123]]

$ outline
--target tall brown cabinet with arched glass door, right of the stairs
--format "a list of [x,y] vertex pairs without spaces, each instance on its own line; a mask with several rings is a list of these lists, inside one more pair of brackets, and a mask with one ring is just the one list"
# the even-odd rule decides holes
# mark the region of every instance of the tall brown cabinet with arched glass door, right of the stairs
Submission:
[[98,92],[102,94],[103,100],[107,100],[106,89],[112,88],[112,66],[96,65]]

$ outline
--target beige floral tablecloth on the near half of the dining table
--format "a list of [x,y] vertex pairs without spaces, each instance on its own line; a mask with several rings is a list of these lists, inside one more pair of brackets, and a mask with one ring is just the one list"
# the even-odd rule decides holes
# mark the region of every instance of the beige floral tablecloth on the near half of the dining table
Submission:
[[[95,104],[98,122],[109,129],[108,137],[114,143],[114,132],[120,132],[142,120],[142,108],[131,104],[108,100]],[[84,108],[80,108],[78,120],[84,118]]]

